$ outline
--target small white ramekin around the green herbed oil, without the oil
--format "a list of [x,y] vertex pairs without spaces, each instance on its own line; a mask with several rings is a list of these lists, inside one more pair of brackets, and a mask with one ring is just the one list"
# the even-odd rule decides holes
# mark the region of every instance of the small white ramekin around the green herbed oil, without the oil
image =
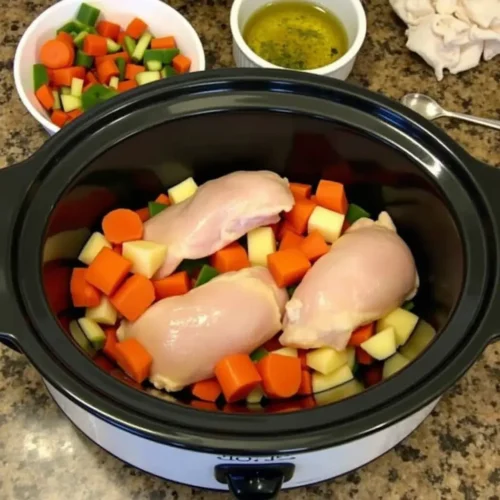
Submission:
[[[275,0],[276,1],[276,0]],[[280,1],[280,0],[278,0]],[[352,71],[356,56],[366,36],[366,15],[361,0],[306,0],[335,14],[347,32],[348,51],[337,61],[321,68],[305,70],[305,73],[331,76],[345,80]],[[240,68],[278,68],[259,57],[245,42],[243,29],[252,14],[269,0],[235,0],[231,8],[231,33],[233,35],[233,56]]]

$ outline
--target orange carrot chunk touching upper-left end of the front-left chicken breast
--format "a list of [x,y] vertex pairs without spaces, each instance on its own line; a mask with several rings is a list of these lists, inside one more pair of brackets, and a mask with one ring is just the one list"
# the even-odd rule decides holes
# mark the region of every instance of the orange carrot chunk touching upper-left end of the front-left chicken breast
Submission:
[[155,289],[150,280],[134,274],[109,299],[115,309],[129,321],[135,321],[155,301]]

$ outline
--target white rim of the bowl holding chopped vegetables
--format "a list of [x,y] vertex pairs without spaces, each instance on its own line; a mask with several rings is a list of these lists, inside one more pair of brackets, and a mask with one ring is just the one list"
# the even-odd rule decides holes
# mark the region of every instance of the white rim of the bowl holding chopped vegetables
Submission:
[[[106,0],[102,0],[106,1]],[[180,19],[180,22],[184,23],[184,26],[194,39],[195,45],[196,45],[196,52],[197,52],[197,57],[199,58],[200,61],[200,69],[199,71],[204,71],[206,69],[206,61],[205,61],[205,51],[203,50],[203,44],[201,43],[201,39],[194,29],[193,25],[176,9],[171,7],[170,5],[161,2],[160,0],[150,0],[153,2],[156,2],[159,7],[164,8],[166,10],[170,10],[175,12],[175,15],[177,15]],[[21,99],[21,102],[23,103],[24,107],[30,112],[31,116],[35,118],[35,120],[40,123],[47,131],[50,131],[50,133],[56,133],[59,130],[61,130],[61,127],[58,127],[52,121],[45,116],[43,113],[38,111],[33,104],[31,104],[28,94],[26,89],[24,88],[24,85],[22,84],[21,80],[21,58],[22,54],[24,53],[24,49],[30,38],[36,34],[36,30],[42,20],[46,19],[47,17],[54,15],[57,13],[57,11],[67,4],[80,4],[80,0],[59,0],[57,3],[54,5],[51,5],[48,9],[45,9],[39,16],[35,18],[35,20],[26,28],[26,31],[23,33],[23,36],[21,37],[21,40],[19,41],[17,48],[16,48],[16,53],[14,55],[14,83],[17,91],[17,95]],[[34,91],[33,91],[34,92]]]

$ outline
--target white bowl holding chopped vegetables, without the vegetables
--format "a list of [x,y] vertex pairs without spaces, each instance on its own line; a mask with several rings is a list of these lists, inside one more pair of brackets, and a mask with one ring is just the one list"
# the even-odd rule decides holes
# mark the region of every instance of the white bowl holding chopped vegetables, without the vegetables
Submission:
[[[181,52],[192,61],[191,72],[205,69],[205,54],[200,38],[189,22],[172,7],[160,0],[89,0],[101,10],[99,19],[120,24],[123,28],[140,17],[155,36],[172,35]],[[59,127],[50,121],[33,89],[33,64],[39,62],[41,45],[55,37],[56,30],[75,18],[82,0],[60,0],[38,16],[25,31],[14,58],[14,81],[21,101],[31,115],[50,134]]]

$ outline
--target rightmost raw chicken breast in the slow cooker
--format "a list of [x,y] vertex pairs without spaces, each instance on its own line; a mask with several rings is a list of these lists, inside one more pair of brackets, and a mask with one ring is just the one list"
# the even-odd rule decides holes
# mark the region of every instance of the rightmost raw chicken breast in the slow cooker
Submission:
[[386,212],[359,219],[306,274],[286,305],[286,346],[343,350],[357,327],[381,318],[418,288],[415,261]]

